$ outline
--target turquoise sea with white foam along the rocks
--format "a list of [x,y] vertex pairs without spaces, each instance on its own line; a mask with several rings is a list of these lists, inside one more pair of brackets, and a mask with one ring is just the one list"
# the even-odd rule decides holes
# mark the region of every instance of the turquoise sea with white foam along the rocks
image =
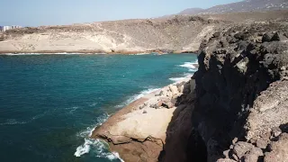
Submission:
[[0,161],[120,161],[89,133],[195,70],[193,54],[0,56]]

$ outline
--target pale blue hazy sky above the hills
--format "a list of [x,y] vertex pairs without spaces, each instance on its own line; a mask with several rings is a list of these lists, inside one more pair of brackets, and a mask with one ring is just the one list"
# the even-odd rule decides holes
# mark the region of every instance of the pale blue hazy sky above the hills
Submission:
[[151,18],[239,0],[0,0],[0,25],[40,26]]

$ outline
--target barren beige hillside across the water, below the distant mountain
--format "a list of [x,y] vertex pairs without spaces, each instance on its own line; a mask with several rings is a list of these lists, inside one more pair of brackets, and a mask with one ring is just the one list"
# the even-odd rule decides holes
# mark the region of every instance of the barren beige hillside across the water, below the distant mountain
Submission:
[[288,11],[176,15],[170,18],[41,26],[0,34],[1,53],[196,51],[223,25],[283,21]]

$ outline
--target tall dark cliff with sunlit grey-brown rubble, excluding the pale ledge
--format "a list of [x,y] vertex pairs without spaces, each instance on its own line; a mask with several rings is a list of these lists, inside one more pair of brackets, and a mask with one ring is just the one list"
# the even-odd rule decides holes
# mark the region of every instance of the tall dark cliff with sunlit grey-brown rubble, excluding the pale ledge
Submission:
[[202,42],[192,122],[207,161],[287,161],[287,31],[231,25]]

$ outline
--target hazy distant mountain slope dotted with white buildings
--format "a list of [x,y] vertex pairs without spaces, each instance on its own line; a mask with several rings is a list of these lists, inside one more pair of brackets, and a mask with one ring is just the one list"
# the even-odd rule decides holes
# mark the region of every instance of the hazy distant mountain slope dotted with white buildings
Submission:
[[288,0],[245,0],[232,4],[220,4],[208,9],[188,8],[179,14],[225,14],[288,9]]

